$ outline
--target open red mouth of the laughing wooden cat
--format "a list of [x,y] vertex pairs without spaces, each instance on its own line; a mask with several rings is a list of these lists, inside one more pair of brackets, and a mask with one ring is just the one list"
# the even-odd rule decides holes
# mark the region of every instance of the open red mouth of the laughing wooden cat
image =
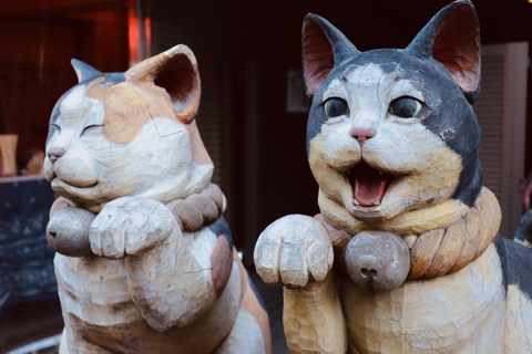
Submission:
[[380,206],[382,197],[395,176],[360,163],[349,171],[352,205],[362,208]]

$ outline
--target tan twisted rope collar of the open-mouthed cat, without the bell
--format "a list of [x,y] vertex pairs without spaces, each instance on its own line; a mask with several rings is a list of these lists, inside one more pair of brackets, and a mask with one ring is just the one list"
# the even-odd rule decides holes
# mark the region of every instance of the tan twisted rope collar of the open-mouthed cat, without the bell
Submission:
[[[344,249],[352,235],[320,220],[329,231],[335,259],[344,263]],[[501,208],[497,197],[483,187],[473,208],[452,223],[402,239],[410,249],[410,273],[407,280],[431,279],[458,272],[482,256],[499,232]]]

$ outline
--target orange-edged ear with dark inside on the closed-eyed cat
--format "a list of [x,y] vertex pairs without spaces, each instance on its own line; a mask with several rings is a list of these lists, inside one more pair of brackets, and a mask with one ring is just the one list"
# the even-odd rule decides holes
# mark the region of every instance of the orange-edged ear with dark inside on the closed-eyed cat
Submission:
[[151,81],[163,87],[172,107],[183,123],[194,119],[200,106],[201,81],[192,50],[178,44],[158,55],[143,60],[125,72],[129,81]]

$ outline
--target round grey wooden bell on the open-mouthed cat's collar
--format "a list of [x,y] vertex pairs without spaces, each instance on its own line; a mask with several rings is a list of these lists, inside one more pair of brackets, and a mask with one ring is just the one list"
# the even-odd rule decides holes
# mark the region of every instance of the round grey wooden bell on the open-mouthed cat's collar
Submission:
[[402,285],[410,271],[407,243],[395,233],[362,231],[347,244],[349,278],[364,290],[383,292]]

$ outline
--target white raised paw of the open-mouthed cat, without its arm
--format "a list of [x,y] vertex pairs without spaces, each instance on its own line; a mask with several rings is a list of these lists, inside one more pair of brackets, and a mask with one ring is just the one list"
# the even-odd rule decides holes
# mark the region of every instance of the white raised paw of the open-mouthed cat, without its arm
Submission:
[[266,283],[300,288],[325,279],[332,267],[334,252],[321,222],[289,215],[260,233],[254,259],[257,273]]

